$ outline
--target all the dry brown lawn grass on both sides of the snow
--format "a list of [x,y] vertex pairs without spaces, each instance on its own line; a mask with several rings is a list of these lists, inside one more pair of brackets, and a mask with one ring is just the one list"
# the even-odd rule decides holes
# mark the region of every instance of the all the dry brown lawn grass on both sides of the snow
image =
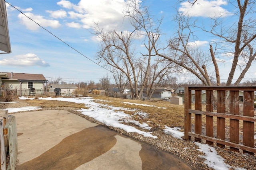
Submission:
[[[184,128],[184,106],[170,104],[166,101],[140,101],[140,100],[128,100],[120,98],[110,98],[105,96],[91,96],[95,99],[95,102],[101,104],[107,104],[114,107],[124,107],[130,109],[136,109],[148,113],[148,117],[141,115],[134,115],[133,111],[124,111],[125,113],[132,115],[132,117],[140,123],[147,123],[152,129],[164,129],[164,125],[168,127],[181,127]],[[45,107],[76,107],[87,108],[84,104],[77,104],[72,102],[63,102],[57,100],[26,100],[29,106],[41,106]],[[132,104],[126,104],[123,102],[129,102]],[[140,106],[135,104],[145,104],[150,106]]]

